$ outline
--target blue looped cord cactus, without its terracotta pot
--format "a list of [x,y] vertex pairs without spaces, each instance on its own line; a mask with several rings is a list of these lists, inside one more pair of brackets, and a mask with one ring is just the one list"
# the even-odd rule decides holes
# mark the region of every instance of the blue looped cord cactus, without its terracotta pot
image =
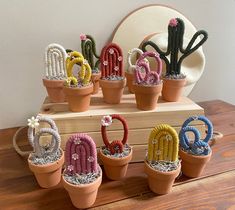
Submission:
[[[205,139],[200,140],[200,132],[197,128],[189,126],[189,124],[194,120],[201,120],[207,126],[207,135]],[[194,141],[190,141],[187,132],[192,132],[194,134]],[[182,125],[182,128],[179,133],[180,138],[180,147],[184,151],[188,151],[194,155],[208,155],[211,152],[210,146],[208,144],[209,140],[213,135],[213,125],[208,118],[205,116],[192,116],[189,117]]]

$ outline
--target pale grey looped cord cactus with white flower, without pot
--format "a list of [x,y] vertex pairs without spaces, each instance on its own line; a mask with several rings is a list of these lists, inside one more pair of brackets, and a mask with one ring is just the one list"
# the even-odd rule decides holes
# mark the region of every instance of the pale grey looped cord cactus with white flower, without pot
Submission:
[[[47,122],[51,128],[41,128],[36,134],[34,134],[35,127],[39,125],[39,122]],[[40,137],[46,133],[52,135],[51,143],[47,145],[47,155],[55,154],[59,150],[61,139],[56,124],[52,119],[41,116],[37,116],[36,118],[32,117],[31,119],[28,119],[28,126],[29,143],[33,147],[37,157],[42,157],[45,154],[45,149],[40,145],[39,140]]]

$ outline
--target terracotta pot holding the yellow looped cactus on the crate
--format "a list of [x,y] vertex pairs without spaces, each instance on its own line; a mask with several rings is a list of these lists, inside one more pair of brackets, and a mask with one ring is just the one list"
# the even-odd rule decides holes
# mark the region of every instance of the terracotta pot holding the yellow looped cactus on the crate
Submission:
[[93,84],[81,88],[64,87],[64,93],[66,95],[70,111],[87,111],[90,106],[92,92]]

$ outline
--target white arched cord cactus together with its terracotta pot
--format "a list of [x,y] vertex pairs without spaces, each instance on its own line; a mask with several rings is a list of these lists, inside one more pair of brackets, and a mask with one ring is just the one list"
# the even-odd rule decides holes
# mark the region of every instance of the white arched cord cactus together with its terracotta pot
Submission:
[[65,101],[63,92],[64,80],[67,78],[65,61],[67,54],[59,44],[49,44],[45,50],[46,74],[42,79],[49,99],[60,103]]

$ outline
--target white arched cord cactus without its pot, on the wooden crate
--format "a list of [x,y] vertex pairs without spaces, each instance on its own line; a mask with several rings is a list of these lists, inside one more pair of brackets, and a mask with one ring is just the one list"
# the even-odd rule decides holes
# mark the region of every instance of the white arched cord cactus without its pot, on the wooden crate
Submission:
[[47,79],[64,79],[67,77],[65,61],[67,53],[59,44],[49,44],[45,50],[45,69]]

